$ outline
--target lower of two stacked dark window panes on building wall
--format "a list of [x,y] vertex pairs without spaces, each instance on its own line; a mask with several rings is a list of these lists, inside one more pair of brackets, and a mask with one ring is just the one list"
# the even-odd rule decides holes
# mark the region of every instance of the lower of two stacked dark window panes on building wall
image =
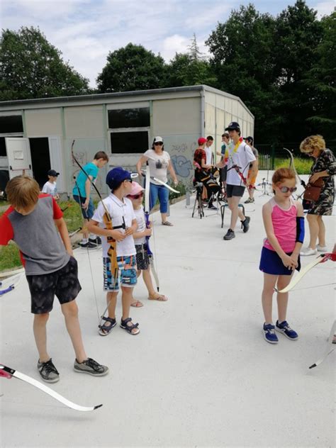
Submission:
[[135,133],[111,133],[112,154],[131,154],[148,149],[147,130]]

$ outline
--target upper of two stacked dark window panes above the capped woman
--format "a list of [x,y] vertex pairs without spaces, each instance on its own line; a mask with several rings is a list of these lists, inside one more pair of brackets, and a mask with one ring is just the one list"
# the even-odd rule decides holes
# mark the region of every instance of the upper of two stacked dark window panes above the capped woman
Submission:
[[150,126],[150,108],[108,111],[108,128],[145,128]]

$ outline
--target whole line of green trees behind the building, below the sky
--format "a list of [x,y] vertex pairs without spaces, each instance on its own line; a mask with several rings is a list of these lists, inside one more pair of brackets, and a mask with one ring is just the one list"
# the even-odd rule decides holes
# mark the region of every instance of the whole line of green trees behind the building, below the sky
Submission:
[[255,117],[255,138],[298,141],[310,133],[334,138],[336,13],[318,20],[306,2],[274,17],[252,4],[233,10],[206,40],[169,62],[142,45],[109,52],[90,89],[88,79],[35,28],[3,30],[0,100],[158,89],[207,84],[240,96]]

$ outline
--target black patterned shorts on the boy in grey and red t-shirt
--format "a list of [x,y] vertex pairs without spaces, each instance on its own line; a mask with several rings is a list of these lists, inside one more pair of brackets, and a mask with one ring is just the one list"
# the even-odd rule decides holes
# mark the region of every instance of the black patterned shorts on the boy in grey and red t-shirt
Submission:
[[77,260],[70,257],[69,262],[50,274],[27,275],[31,312],[33,314],[49,313],[52,310],[55,294],[60,304],[68,303],[78,296],[82,286],[78,280]]

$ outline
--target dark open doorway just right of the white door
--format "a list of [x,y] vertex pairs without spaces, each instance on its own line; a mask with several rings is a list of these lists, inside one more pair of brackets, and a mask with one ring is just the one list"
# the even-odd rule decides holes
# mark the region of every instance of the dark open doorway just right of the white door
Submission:
[[47,181],[50,170],[49,140],[47,137],[30,138],[30,155],[33,166],[33,177],[42,188]]

